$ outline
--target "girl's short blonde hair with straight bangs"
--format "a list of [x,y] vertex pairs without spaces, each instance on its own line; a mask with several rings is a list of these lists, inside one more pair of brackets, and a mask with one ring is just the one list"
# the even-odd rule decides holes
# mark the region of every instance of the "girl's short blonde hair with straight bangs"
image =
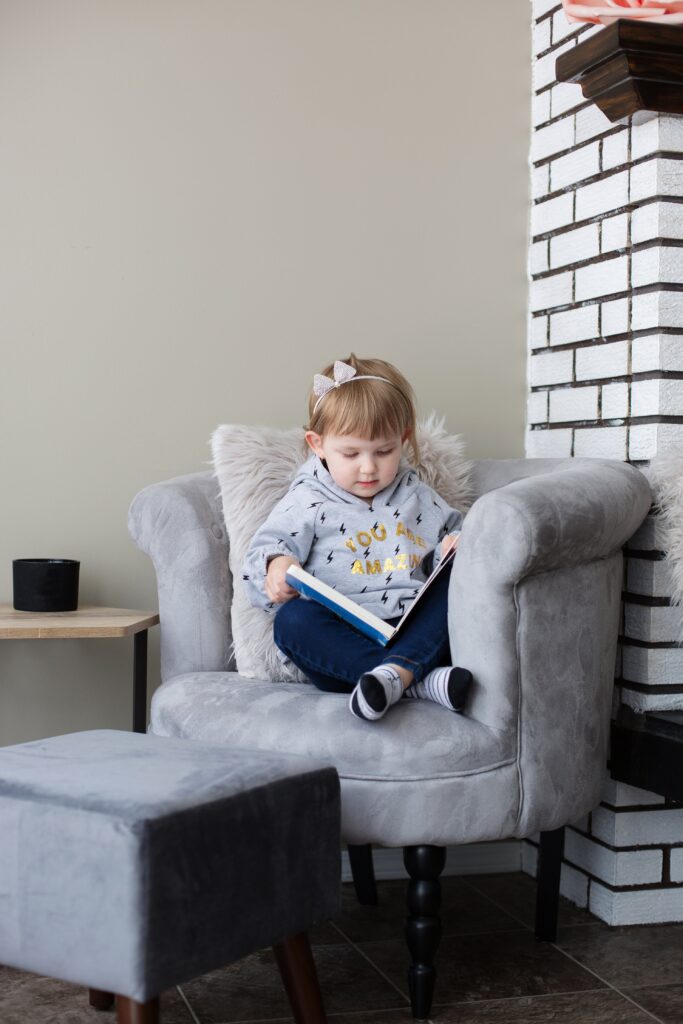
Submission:
[[[353,367],[358,377],[385,377],[386,382],[352,379],[328,391],[316,410],[318,395],[311,389],[308,425],[304,430],[312,430],[321,437],[326,434],[358,434],[370,440],[389,434],[402,436],[408,431],[412,461],[417,466],[420,453],[416,437],[415,393],[403,375],[384,359],[359,359],[353,352],[342,361]],[[330,362],[321,373],[333,377],[334,366]]]

